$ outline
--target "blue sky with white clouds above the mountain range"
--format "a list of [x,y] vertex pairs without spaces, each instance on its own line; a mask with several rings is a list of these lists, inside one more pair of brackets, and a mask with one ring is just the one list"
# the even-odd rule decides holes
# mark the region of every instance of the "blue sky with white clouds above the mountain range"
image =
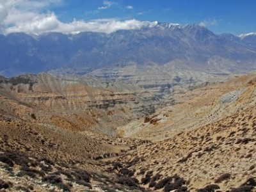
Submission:
[[0,33],[112,33],[147,22],[195,23],[216,34],[256,32],[256,0],[0,0]]

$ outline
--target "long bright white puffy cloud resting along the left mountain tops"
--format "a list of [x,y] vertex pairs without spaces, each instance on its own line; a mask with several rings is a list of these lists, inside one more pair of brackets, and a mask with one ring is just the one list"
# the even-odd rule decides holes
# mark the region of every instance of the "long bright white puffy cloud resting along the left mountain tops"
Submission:
[[116,20],[116,19],[99,19],[90,20],[73,20],[69,23],[63,23],[54,13],[40,15],[31,22],[20,24],[18,26],[7,28],[6,33],[24,32],[40,35],[47,32],[60,33],[79,33],[81,31],[94,31],[100,33],[113,33],[120,29],[139,29],[143,26],[143,22],[138,20]]

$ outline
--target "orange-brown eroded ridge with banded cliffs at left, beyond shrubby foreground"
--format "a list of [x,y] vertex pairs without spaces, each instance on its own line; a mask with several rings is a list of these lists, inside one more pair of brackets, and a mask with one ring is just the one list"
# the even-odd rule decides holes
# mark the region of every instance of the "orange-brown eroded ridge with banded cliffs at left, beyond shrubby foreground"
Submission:
[[[3,114],[71,131],[115,135],[116,123],[154,113],[150,94],[132,85],[88,86],[84,79],[58,79],[43,73],[2,80]],[[115,122],[113,124],[112,122]]]

